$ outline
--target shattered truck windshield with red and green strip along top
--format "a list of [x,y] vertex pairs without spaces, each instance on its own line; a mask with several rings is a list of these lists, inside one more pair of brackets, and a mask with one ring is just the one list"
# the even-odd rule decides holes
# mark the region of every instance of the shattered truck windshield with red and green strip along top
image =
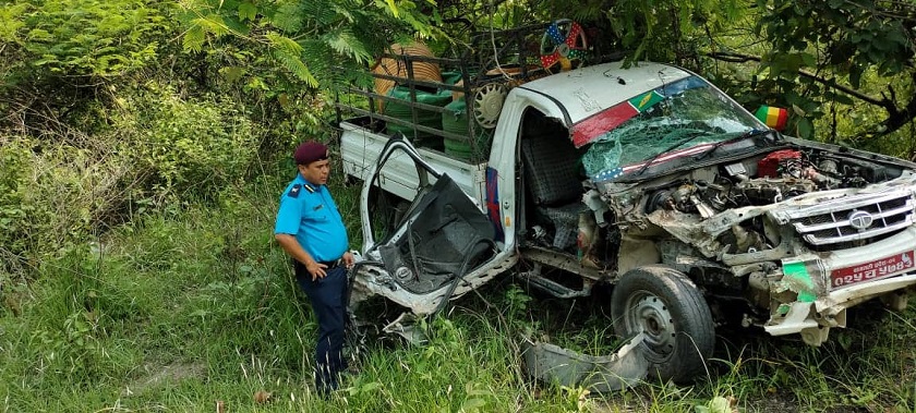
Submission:
[[[706,81],[689,76],[604,110],[575,129],[577,146],[587,146],[586,172],[602,181],[766,126]],[[663,156],[666,151],[671,154]]]

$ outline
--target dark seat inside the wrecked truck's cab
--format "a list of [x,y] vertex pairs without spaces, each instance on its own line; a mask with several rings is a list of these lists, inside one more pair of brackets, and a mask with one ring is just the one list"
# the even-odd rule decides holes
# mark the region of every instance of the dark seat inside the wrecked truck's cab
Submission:
[[587,209],[576,147],[562,133],[542,131],[522,137],[521,157],[535,212],[553,226],[551,245],[559,250],[571,247],[579,232],[579,214]]

